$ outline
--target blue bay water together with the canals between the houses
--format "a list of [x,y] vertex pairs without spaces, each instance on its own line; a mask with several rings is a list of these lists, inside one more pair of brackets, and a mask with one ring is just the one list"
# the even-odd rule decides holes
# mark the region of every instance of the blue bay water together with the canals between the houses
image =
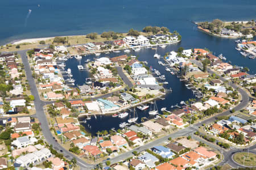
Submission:
[[[38,6],[40,5],[40,7]],[[28,14],[28,10],[32,10]],[[256,73],[256,59],[243,58],[234,49],[233,39],[213,37],[198,31],[194,22],[213,20],[219,18],[224,21],[230,20],[256,20],[255,0],[183,0],[183,1],[152,1],[152,0],[120,0],[120,1],[84,1],[84,0],[12,0],[0,1],[0,45],[7,42],[36,38],[65,35],[84,35],[89,32],[116,31],[127,32],[130,28],[141,30],[146,25],[168,27],[171,31],[178,31],[182,41],[177,45],[168,46],[159,50],[164,54],[170,50],[183,48],[208,48],[216,55],[222,53],[233,65],[247,66],[250,73]],[[148,61],[161,73],[164,68],[160,67],[155,59],[152,59],[151,50],[138,52],[139,59]],[[110,57],[113,57],[109,55]],[[93,58],[94,56],[90,56]],[[71,59],[67,67],[77,65],[75,59]],[[76,67],[76,66],[75,66]],[[88,73],[79,73],[72,69],[76,84],[83,84]],[[170,107],[180,100],[193,97],[175,76],[166,74],[170,82],[168,86],[174,88],[166,100],[158,101],[160,107]],[[142,117],[144,116],[141,113]],[[88,129],[94,134],[98,130],[117,127],[118,118],[104,117],[104,120],[92,118]],[[104,122],[104,125],[102,124]],[[101,125],[101,126],[97,126]]]

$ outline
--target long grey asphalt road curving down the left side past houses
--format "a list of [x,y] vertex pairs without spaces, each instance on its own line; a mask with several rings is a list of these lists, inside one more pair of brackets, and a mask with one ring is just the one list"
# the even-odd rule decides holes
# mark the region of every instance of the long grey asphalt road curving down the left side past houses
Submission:
[[52,145],[53,148],[55,148],[55,150],[57,150],[58,152],[61,152],[60,150],[62,150],[61,153],[63,153],[63,155],[66,158],[68,158],[68,159],[76,158],[77,165],[79,165],[81,167],[81,169],[93,169],[94,165],[85,163],[83,160],[81,160],[77,156],[71,154],[71,152],[65,150],[58,142],[55,141],[55,139],[53,139],[52,133],[49,130],[49,124],[48,124],[48,121],[46,118],[46,114],[44,113],[44,109],[43,109],[44,105],[46,105],[47,102],[42,101],[40,99],[40,96],[38,94],[38,89],[36,88],[34,78],[32,77],[32,71],[31,71],[30,65],[28,63],[26,50],[18,51],[18,54],[20,54],[20,56],[22,58],[24,69],[25,69],[26,75],[27,75],[27,80],[28,80],[28,83],[30,84],[31,94],[34,95],[34,97],[35,97],[34,103],[35,103],[35,109],[36,109],[36,117],[38,118],[39,122],[41,123],[41,128],[42,128],[44,138],[46,138],[46,141],[49,143],[49,145]]

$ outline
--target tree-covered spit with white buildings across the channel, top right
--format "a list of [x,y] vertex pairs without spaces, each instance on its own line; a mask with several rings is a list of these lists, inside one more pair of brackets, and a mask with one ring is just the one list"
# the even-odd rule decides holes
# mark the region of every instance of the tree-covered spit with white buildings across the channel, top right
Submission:
[[255,22],[254,20],[247,22],[223,22],[220,19],[214,19],[212,22],[199,22],[196,23],[197,28],[201,31],[207,32],[210,35],[239,38],[245,37],[252,39],[255,36]]

